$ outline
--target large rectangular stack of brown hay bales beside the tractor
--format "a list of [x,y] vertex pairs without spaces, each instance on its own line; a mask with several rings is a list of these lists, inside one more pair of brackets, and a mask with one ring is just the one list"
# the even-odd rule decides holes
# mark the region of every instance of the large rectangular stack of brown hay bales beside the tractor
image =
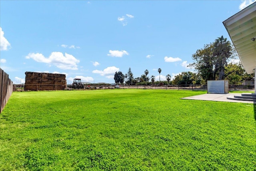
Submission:
[[25,72],[24,90],[56,90],[66,88],[65,74]]

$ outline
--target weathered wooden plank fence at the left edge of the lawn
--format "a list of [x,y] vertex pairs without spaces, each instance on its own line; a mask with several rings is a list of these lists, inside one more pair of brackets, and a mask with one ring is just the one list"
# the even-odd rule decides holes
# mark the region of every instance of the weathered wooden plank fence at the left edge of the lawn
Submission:
[[0,68],[0,113],[4,109],[4,106],[6,105],[8,99],[12,95],[13,91],[13,83],[12,80],[9,79],[9,75],[4,72]]

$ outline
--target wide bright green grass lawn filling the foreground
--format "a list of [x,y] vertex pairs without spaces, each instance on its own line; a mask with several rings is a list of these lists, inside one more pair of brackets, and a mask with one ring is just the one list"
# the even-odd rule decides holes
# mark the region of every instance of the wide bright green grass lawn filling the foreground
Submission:
[[0,114],[0,170],[256,170],[253,104],[205,91],[14,92]]

